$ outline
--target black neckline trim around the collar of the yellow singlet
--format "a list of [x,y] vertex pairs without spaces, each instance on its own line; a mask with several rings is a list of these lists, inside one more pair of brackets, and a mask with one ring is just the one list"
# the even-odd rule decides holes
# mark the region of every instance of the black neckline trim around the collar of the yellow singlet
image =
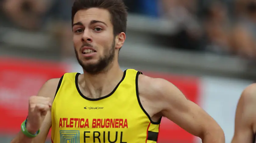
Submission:
[[104,98],[107,98],[107,97],[111,96],[111,95],[116,91],[116,89],[118,88],[118,86],[121,84],[121,82],[122,82],[122,81],[124,80],[124,78],[125,78],[126,70],[123,72],[123,78],[119,81],[119,83],[116,85],[116,87],[113,89],[113,91],[110,92],[108,95],[102,96],[102,97],[100,97],[100,98],[88,98],[88,97],[86,97],[86,96],[84,96],[84,95],[82,94],[82,92],[80,91],[80,89],[79,89],[79,87],[78,87],[78,76],[79,76],[79,75],[80,75],[80,73],[77,73],[77,74],[76,74],[76,79],[75,79],[76,89],[77,89],[78,93],[79,93],[84,99],[86,99],[86,100],[89,100],[89,101],[98,101],[98,100],[101,100],[101,99],[104,99]]

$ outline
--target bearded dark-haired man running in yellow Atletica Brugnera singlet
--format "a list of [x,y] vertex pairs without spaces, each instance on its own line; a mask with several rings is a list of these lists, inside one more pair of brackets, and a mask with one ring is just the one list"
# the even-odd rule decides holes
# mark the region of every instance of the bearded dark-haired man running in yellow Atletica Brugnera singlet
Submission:
[[204,143],[225,142],[216,121],[170,82],[120,69],[126,20],[122,0],[75,0],[73,43],[84,74],[48,80],[12,143],[44,143],[51,127],[54,143],[154,143],[163,116]]

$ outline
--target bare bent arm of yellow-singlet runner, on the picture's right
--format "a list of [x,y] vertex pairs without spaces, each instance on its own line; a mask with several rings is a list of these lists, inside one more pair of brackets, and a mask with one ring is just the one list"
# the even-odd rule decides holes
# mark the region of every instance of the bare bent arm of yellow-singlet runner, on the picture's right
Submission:
[[164,117],[200,137],[203,143],[225,142],[224,132],[218,123],[172,83],[161,78],[151,78],[150,82]]

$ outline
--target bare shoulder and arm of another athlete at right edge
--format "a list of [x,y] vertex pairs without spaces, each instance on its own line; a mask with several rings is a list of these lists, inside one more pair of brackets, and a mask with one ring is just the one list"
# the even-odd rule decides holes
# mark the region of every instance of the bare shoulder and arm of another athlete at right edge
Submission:
[[244,89],[236,108],[232,143],[256,143],[256,84]]

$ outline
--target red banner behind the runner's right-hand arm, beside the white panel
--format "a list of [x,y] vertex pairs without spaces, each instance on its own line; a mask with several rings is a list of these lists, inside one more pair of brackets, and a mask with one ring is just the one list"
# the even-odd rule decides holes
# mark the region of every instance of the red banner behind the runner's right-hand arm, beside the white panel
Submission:
[[[199,79],[190,76],[174,76],[167,74],[144,73],[154,78],[164,78],[180,89],[183,94],[191,101],[198,103],[199,100]],[[167,118],[163,118],[160,124],[159,142],[186,142],[193,143],[195,137],[180,128]]]

